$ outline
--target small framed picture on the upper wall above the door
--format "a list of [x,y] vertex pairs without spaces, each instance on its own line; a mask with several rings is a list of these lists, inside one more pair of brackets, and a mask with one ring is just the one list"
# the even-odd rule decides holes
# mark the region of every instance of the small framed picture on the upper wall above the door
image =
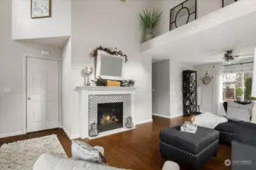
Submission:
[[31,0],[31,18],[51,17],[51,0]]

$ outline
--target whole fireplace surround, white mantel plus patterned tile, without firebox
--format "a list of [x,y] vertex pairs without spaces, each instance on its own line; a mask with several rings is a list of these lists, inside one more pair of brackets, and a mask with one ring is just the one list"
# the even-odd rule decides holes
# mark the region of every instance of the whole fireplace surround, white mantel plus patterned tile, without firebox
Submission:
[[134,94],[136,88],[79,86],[75,90],[79,92],[80,100],[80,138],[93,139],[89,136],[89,130],[90,124],[97,122],[98,104],[123,102],[123,128],[100,132],[94,138],[130,130],[130,128],[125,128],[126,118],[130,116],[135,126]]

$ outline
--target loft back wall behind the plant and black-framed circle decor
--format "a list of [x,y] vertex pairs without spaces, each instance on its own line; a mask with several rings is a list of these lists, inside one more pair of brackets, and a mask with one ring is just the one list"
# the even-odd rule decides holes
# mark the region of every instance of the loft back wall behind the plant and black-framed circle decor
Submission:
[[[155,36],[160,36],[165,32],[169,32],[169,15],[170,10],[176,5],[179,5],[184,1],[181,0],[158,0],[150,1],[150,9],[156,9],[163,11],[160,23],[154,33]],[[222,0],[198,0],[198,18],[203,17],[206,14],[210,14],[213,11],[222,8]]]

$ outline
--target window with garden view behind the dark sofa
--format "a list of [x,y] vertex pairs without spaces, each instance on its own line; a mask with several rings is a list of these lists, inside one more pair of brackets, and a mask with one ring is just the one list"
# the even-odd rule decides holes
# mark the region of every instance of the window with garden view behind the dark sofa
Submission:
[[223,101],[254,100],[251,97],[253,73],[251,70],[245,72],[223,74]]

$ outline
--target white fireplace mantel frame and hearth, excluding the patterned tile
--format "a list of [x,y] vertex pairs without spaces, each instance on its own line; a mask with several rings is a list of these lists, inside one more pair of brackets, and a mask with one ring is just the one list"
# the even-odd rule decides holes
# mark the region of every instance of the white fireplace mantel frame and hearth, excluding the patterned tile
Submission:
[[[131,94],[131,117],[135,126],[135,91],[137,88],[134,87],[88,87],[88,86],[77,86],[74,91],[79,93],[79,118],[80,118],[80,132],[79,138],[90,138],[89,136],[89,95],[97,94]],[[124,125],[125,126],[125,125]],[[109,134],[115,134],[120,131],[127,131],[127,128],[114,129],[112,131],[104,131],[99,134],[98,137],[102,137]]]

